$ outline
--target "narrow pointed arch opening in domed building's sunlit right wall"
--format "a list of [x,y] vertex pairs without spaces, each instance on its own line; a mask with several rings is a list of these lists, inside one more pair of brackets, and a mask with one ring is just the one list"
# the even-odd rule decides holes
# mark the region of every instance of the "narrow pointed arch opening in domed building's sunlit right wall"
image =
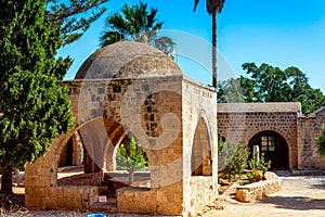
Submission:
[[211,176],[211,146],[209,131],[203,118],[198,120],[194,133],[193,149],[191,156],[192,176]]

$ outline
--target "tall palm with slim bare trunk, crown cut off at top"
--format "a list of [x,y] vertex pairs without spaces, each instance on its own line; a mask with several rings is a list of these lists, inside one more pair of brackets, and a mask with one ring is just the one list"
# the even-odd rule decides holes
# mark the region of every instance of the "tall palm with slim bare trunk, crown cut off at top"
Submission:
[[[212,15],[212,87],[217,88],[217,13],[221,13],[225,0],[206,0],[207,12]],[[194,0],[194,12],[199,0]]]

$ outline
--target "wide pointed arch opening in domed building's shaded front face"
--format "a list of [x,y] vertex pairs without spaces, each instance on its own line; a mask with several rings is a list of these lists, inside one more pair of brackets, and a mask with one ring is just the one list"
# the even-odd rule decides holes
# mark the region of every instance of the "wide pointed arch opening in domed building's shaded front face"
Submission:
[[[72,167],[65,170],[57,168],[57,186],[96,186],[100,188],[100,195],[106,195],[107,200],[115,199],[116,190],[123,187],[150,187],[150,171],[135,173],[130,179],[127,169],[122,171],[115,169],[114,152],[120,144],[129,146],[128,142],[132,138],[132,133],[127,132],[120,124],[105,117],[79,126],[60,148],[60,159],[56,159],[56,165],[58,166],[61,162],[66,164],[68,162],[66,159],[70,156],[81,158],[82,165],[78,170]],[[83,148],[81,153],[70,154],[72,148],[80,145]]]

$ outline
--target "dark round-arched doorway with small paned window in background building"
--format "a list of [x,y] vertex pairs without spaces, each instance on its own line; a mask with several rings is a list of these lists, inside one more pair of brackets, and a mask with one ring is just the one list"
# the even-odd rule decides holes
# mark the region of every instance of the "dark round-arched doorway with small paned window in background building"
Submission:
[[253,145],[259,145],[265,162],[271,161],[272,169],[287,169],[289,167],[289,152],[286,140],[275,131],[262,131],[249,141],[250,158]]

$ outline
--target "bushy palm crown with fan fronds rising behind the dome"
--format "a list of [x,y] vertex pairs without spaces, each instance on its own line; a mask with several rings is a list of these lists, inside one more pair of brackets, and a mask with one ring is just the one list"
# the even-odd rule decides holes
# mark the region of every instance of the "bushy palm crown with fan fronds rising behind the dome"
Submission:
[[168,37],[157,37],[162,22],[156,18],[158,10],[140,1],[139,4],[125,3],[122,9],[106,18],[106,29],[100,37],[100,46],[108,46],[120,40],[132,40],[154,46],[172,55],[174,43]]

